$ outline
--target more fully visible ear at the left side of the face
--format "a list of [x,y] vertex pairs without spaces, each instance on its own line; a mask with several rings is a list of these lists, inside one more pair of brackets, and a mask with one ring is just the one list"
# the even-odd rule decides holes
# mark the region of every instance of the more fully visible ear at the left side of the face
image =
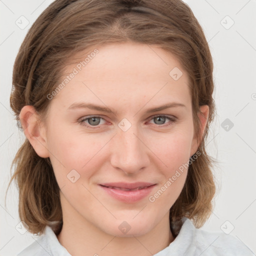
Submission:
[[22,107],[19,119],[25,136],[40,157],[49,157],[47,149],[45,127],[39,121],[39,115],[31,105]]

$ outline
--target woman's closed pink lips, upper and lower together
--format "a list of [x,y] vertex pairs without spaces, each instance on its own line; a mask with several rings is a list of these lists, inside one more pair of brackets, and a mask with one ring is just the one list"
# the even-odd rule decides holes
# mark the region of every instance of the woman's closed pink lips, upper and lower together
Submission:
[[[111,182],[111,183],[102,183],[98,185],[105,192],[107,192],[109,195],[111,195],[115,199],[132,203],[132,202],[137,202],[142,198],[144,198],[146,195],[148,195],[156,184],[149,183],[149,182],[135,182],[135,183]],[[115,187],[115,188],[111,188],[111,187]],[[136,189],[136,188],[139,188],[139,189]],[[122,190],[122,189],[136,189],[136,190]]]

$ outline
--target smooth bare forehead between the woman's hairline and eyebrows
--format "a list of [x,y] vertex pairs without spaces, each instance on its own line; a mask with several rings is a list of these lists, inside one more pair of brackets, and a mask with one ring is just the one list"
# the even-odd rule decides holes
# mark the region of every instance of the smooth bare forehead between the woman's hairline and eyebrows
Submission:
[[[92,54],[95,49],[97,53]],[[130,104],[190,101],[186,72],[177,58],[157,45],[91,47],[73,56],[64,68],[63,80],[72,72],[75,75],[55,96],[66,107],[73,101],[86,100],[111,105],[118,100]]]

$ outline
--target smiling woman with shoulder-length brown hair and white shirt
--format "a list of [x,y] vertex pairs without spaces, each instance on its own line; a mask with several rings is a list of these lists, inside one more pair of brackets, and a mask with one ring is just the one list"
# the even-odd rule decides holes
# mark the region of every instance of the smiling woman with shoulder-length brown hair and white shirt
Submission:
[[199,229],[215,185],[212,58],[180,0],[56,0],[13,69],[18,255],[251,255]]

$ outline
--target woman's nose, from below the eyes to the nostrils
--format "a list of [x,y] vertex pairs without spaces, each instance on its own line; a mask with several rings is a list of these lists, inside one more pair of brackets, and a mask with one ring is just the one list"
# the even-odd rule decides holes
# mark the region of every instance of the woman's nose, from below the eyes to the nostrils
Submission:
[[111,164],[125,174],[135,174],[149,165],[150,150],[146,140],[135,125],[123,131],[117,129],[111,144]]

